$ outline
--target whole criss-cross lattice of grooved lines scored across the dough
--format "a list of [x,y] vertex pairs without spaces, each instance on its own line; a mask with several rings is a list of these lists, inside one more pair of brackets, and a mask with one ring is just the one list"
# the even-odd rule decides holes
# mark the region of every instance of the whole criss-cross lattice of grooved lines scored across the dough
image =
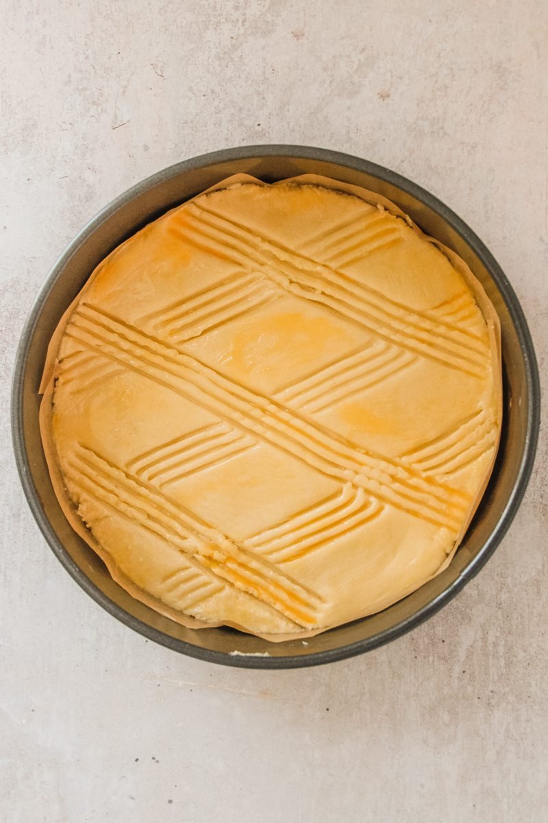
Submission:
[[[81,302],[66,330],[78,351],[62,362],[61,375],[70,384],[77,366],[88,374],[89,387],[129,370],[186,398],[216,422],[135,454],[124,465],[81,446],[68,474],[91,500],[178,552],[180,567],[159,584],[166,602],[192,613],[232,587],[297,627],[320,625],[322,598],[282,568],[373,523],[387,506],[456,537],[471,497],[448,481],[495,444],[496,425],[478,412],[400,458],[387,458],[351,444],[315,415],[421,357],[481,377],[488,351],[474,331],[477,307],[466,294],[413,311],[353,278],[347,267],[402,241],[398,224],[380,210],[334,226],[298,251],[196,203],[185,207],[182,226],[172,224],[169,231],[228,259],[233,272],[136,325]],[[288,294],[324,305],[365,328],[370,340],[372,332],[374,341],[273,394],[238,384],[185,349],[187,342]],[[239,543],[169,496],[184,478],[261,443],[338,481],[338,491]]]

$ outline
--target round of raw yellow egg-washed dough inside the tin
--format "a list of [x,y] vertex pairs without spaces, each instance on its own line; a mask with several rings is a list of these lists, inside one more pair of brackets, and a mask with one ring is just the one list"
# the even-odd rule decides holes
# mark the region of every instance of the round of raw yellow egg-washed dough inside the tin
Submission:
[[281,639],[389,606],[448,564],[495,458],[498,327],[472,291],[332,188],[174,209],[60,325],[41,425],[67,517],[185,625]]

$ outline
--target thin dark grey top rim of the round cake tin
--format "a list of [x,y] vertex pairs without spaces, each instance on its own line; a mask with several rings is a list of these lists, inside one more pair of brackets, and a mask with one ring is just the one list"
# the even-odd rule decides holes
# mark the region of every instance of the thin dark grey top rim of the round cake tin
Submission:
[[[187,643],[182,639],[173,638],[170,635],[164,634],[163,631],[154,629],[152,626],[141,621],[139,618],[132,616],[129,612],[117,603],[113,602],[107,594],[101,591],[90,578],[85,574],[79,565],[77,565],[62,542],[55,534],[51,523],[44,512],[44,508],[40,503],[39,490],[31,480],[29,472],[29,464],[27,462],[25,450],[25,435],[23,431],[23,380],[22,376],[25,370],[26,357],[30,347],[30,341],[35,333],[36,323],[39,315],[42,313],[44,306],[47,304],[48,295],[52,291],[54,284],[58,281],[58,277],[62,276],[64,267],[67,265],[71,256],[76,253],[81,244],[85,242],[95,231],[103,226],[104,222],[108,221],[116,212],[123,206],[131,202],[142,193],[154,188],[155,185],[164,183],[168,179],[177,177],[179,174],[203,168],[208,165],[220,163],[229,160],[248,160],[260,157],[295,157],[306,160],[324,160],[330,163],[344,166],[352,170],[371,174],[376,179],[380,179],[385,183],[397,186],[400,190],[417,198],[424,203],[431,211],[435,212],[442,219],[451,226],[451,228],[461,236],[467,246],[472,249],[472,252],[477,255],[481,263],[486,267],[490,277],[495,281],[497,289],[500,291],[504,302],[509,310],[510,318],[512,319],[513,327],[518,336],[519,345],[523,353],[524,371],[527,385],[527,395],[529,405],[527,408],[527,430],[524,441],[523,454],[521,463],[518,468],[516,481],[510,491],[509,499],[500,514],[500,518],[495,524],[489,536],[486,538],[483,546],[477,551],[477,555],[472,558],[468,565],[461,571],[457,579],[454,580],[447,588],[434,597],[431,602],[426,603],[425,606],[419,608],[411,616],[408,616],[403,621],[398,622],[385,630],[372,635],[370,638],[357,640],[352,644],[338,646],[336,649],[327,649],[323,651],[303,653],[295,656],[281,655],[278,657],[257,657],[254,655],[238,654],[231,655],[230,653],[217,651],[214,649],[202,649],[200,646]],[[220,151],[212,151],[203,155],[182,160],[176,164],[167,166],[166,168],[151,174],[149,177],[140,180],[135,185],[128,188],[125,192],[114,198],[107,206],[102,208],[90,221],[76,234],[74,239],[67,245],[67,248],[62,252],[56,263],[48,272],[43,286],[40,288],[38,295],[30,309],[27,319],[21,333],[21,340],[17,347],[15,366],[12,378],[12,440],[13,448],[16,457],[17,471],[21,479],[21,485],[25,492],[26,500],[30,506],[30,510],[39,526],[48,546],[52,549],[54,555],[62,563],[65,569],[71,574],[71,577],[76,580],[76,583],[84,589],[86,593],[93,597],[95,602],[98,602],[110,615],[116,617],[131,629],[144,635],[146,638],[154,640],[154,642],[166,646],[168,649],[177,651],[179,653],[187,654],[190,657],[198,658],[209,663],[220,663],[234,667],[245,667],[255,669],[282,669],[282,668],[301,668],[308,666],[315,666],[325,663],[334,663],[344,658],[354,657],[357,654],[371,651],[378,648],[380,645],[389,643],[391,640],[397,639],[408,631],[417,628],[422,622],[435,614],[444,607],[463,587],[472,579],[479,570],[486,564],[493,552],[500,545],[505,533],[508,531],[510,524],[518,511],[519,505],[523,500],[523,495],[527,489],[527,483],[531,477],[532,467],[535,460],[536,444],[540,426],[540,403],[541,390],[538,367],[536,364],[536,355],[532,343],[531,333],[527,326],[527,320],[523,314],[523,309],[518,301],[518,297],[513,291],[508,278],[496,262],[493,255],[490,253],[486,245],[481,239],[470,229],[469,226],[456,215],[449,207],[445,206],[435,195],[428,192],[425,188],[421,188],[418,184],[412,182],[402,174],[398,174],[385,166],[375,164],[371,160],[364,160],[362,158],[345,154],[343,152],[333,151],[331,149],[316,148],[314,146],[294,146],[290,144],[265,144],[256,146],[237,146],[234,148],[222,149]],[[236,636],[236,635],[235,635]],[[235,639],[235,645],[237,640]]]

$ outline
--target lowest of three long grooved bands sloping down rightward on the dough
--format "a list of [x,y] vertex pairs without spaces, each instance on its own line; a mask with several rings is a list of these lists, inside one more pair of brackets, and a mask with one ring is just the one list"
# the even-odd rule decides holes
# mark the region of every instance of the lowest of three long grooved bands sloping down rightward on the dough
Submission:
[[76,468],[76,486],[82,486],[83,481],[83,487],[96,496],[101,491],[113,495],[115,505],[129,509],[132,517],[153,531],[158,533],[160,528],[160,537],[174,542],[187,556],[190,552],[194,563],[268,603],[290,620],[316,625],[320,597],[277,566],[244,551],[154,486],[138,481],[91,449],[77,449],[72,466]]

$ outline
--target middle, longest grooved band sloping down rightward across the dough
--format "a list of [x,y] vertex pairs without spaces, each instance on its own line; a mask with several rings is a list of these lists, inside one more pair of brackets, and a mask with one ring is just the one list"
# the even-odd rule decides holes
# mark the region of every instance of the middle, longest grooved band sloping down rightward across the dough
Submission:
[[169,349],[98,309],[81,305],[72,316],[67,334],[208,411],[228,417],[233,425],[304,460],[329,477],[350,480],[409,514],[456,529],[467,509],[467,495],[462,492],[441,486],[403,463],[349,448],[334,433],[279,406],[272,398],[242,388],[198,360]]

